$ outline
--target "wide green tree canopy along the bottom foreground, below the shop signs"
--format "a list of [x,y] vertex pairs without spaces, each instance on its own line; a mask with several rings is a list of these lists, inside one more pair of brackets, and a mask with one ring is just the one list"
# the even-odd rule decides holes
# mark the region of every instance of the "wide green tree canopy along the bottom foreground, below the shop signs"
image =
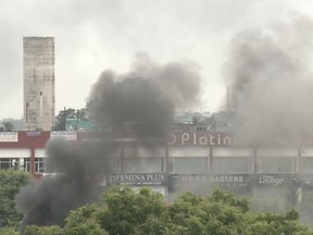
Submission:
[[96,235],[312,235],[299,213],[255,212],[247,199],[216,189],[210,197],[186,191],[174,202],[150,188],[135,191],[113,187],[101,205],[86,205],[70,213],[64,227],[27,226],[24,234]]

